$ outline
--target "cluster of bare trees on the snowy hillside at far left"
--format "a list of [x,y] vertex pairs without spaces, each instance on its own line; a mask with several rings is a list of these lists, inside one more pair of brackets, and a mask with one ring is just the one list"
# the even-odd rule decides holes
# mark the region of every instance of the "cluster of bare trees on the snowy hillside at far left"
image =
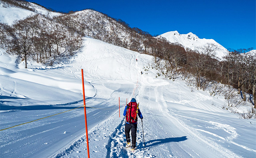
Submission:
[[0,24],[0,28],[1,47],[22,57],[25,68],[28,58],[46,63],[50,58],[73,55],[82,45],[80,34],[39,14],[16,21],[12,26]]

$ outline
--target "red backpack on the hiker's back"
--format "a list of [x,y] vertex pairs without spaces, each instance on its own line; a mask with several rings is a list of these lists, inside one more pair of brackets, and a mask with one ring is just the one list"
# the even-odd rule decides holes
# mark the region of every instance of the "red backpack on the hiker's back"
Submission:
[[128,123],[136,123],[138,120],[137,113],[138,113],[138,104],[136,102],[130,102],[127,105],[126,109],[126,122]]

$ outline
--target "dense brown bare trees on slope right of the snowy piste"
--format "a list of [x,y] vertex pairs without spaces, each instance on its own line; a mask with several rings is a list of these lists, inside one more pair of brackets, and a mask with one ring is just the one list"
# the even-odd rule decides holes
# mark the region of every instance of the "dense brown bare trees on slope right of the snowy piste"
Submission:
[[[244,53],[251,48],[229,51],[224,59],[219,61],[215,57],[216,47],[212,44],[207,44],[197,51],[185,50],[182,46],[165,40],[161,40],[157,45],[147,45],[150,45],[149,49],[152,50],[147,53],[155,56],[157,68],[169,79],[187,77],[190,78],[190,85],[202,90],[212,86],[214,82],[221,83],[227,85],[228,89],[220,90],[221,87],[215,87],[213,93],[223,91],[229,107],[242,103],[235,98],[236,94],[239,94],[244,102],[247,99],[256,108],[256,53]],[[237,91],[234,91],[234,88]]]

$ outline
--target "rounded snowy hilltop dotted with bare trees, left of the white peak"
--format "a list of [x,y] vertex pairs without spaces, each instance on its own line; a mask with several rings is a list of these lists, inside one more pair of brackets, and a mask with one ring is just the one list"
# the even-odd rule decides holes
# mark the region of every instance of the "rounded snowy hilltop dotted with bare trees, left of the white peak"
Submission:
[[62,18],[68,18],[70,20],[70,23],[67,24],[68,27],[74,28],[86,36],[126,48],[128,48],[127,43],[130,42],[132,33],[134,33],[113,18],[94,10],[82,10]]

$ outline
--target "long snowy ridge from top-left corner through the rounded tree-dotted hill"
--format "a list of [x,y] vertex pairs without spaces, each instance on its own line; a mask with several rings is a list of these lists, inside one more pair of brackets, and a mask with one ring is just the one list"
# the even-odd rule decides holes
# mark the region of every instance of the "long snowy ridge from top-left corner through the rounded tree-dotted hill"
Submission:
[[26,7],[22,8],[0,0],[1,23],[12,25],[15,20],[21,20],[34,14],[41,14],[44,15],[43,18],[47,20],[53,18],[58,25],[64,25],[62,27],[69,28],[83,36],[90,36],[140,53],[144,52],[142,43],[145,40],[145,36],[138,33],[142,30],[138,28],[137,30],[132,29],[122,20],[115,20],[106,14],[90,9],[72,14],[60,14],[46,10],[42,6],[31,2],[19,1],[19,3],[21,6]]

